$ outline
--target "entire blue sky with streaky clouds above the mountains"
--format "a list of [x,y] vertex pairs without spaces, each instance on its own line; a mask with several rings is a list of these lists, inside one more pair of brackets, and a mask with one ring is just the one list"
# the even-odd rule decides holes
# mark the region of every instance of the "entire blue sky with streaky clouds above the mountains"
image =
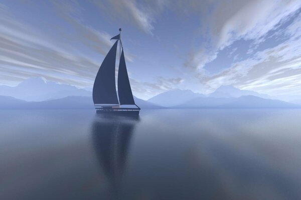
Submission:
[[300,0],[0,0],[0,85],[92,87],[122,28],[133,94],[301,96]]

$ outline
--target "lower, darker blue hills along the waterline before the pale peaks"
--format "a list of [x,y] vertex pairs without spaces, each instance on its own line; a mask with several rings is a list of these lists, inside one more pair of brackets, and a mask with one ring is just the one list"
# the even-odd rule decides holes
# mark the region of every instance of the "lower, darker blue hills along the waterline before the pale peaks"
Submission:
[[[142,109],[167,108],[134,97]],[[11,96],[0,96],[0,109],[93,109],[90,96],[67,96],[46,101],[25,101]],[[281,100],[240,96],[231,98],[197,97],[170,108],[301,108],[301,105]]]

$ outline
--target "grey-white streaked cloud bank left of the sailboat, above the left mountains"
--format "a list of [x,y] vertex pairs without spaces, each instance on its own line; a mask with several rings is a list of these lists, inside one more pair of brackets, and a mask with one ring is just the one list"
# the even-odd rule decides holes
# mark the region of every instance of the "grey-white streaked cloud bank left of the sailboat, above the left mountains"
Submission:
[[[6,8],[0,18],[0,68],[2,84],[16,84],[32,76],[62,83],[92,84],[99,62],[56,45],[55,40],[19,22]],[[70,50],[70,51],[69,51]]]

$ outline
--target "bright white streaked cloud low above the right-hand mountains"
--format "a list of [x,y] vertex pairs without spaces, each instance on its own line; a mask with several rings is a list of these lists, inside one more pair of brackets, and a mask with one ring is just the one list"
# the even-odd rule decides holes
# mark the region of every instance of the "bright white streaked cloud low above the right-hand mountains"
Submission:
[[255,90],[272,96],[301,93],[301,14],[283,27],[286,41],[253,56],[233,63],[213,76],[199,76],[208,91],[232,84],[241,89]]

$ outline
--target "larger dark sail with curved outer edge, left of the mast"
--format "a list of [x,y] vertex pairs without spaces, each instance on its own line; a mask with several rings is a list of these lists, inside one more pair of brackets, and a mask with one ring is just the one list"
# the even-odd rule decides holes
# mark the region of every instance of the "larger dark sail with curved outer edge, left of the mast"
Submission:
[[105,56],[94,81],[94,104],[118,104],[115,84],[115,61],[117,42]]

